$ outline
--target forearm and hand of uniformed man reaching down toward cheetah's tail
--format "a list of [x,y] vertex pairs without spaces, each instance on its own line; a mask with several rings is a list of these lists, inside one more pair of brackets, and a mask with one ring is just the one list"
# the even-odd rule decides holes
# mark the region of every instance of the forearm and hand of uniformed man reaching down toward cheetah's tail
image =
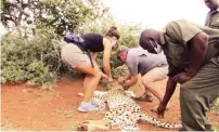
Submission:
[[175,82],[173,79],[171,77],[169,77],[169,79],[167,81],[166,92],[165,92],[164,98],[160,102],[159,107],[157,108],[157,116],[158,117],[162,117],[162,118],[164,117],[166,106],[167,106],[169,100],[171,98],[171,96],[176,90],[176,87],[177,87],[177,82]]

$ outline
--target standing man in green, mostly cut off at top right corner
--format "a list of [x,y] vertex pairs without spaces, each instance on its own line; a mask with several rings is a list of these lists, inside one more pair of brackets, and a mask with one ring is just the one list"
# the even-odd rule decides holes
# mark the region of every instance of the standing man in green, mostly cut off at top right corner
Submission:
[[219,29],[219,0],[204,0],[209,12],[207,14],[205,26]]

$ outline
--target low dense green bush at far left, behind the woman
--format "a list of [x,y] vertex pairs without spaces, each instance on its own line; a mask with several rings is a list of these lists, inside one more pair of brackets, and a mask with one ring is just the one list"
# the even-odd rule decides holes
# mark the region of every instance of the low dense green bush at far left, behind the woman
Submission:
[[1,82],[27,81],[31,85],[50,88],[63,65],[59,37],[53,32],[52,29],[38,29],[33,40],[5,35],[1,42]]

